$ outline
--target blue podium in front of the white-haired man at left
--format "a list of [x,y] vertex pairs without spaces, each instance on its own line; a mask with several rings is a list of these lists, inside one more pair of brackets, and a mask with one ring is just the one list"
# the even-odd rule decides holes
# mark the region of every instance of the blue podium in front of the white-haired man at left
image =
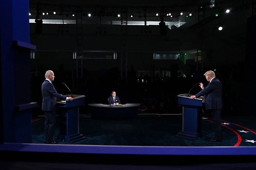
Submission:
[[72,101],[57,102],[60,111],[59,140],[75,142],[86,138],[79,132],[79,106],[84,105],[84,98],[84,95],[73,95]]

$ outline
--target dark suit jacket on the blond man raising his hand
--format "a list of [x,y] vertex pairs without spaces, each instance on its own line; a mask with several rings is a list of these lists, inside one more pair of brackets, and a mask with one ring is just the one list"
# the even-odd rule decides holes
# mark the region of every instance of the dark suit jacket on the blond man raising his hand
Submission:
[[207,110],[222,109],[222,84],[217,78],[212,79],[211,83],[195,96],[196,98],[204,96],[205,109]]

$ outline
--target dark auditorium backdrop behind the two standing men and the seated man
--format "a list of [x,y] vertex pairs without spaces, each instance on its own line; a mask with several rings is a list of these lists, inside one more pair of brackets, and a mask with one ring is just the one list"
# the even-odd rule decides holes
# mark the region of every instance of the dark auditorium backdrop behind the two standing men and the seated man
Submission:
[[[73,94],[86,96],[82,114],[88,113],[88,103],[106,104],[106,99],[113,90],[117,92],[123,104],[143,102],[148,107],[148,113],[178,113],[176,96],[188,93],[198,82],[207,85],[203,74],[208,70],[215,70],[216,77],[223,84],[223,114],[252,114],[245,110],[247,106],[244,107],[247,105],[245,98],[249,97],[246,96],[245,89],[248,89],[246,87],[249,85],[245,85],[245,78],[250,75],[254,63],[250,51],[250,38],[253,37],[251,25],[254,20],[251,17],[252,4],[249,2],[216,1],[215,6],[209,8],[209,1],[74,1],[72,4],[68,1],[30,1],[30,19],[37,17],[37,10],[43,22],[46,19],[74,19],[76,16],[72,18],[71,13],[77,14],[79,5],[82,6],[81,37],[77,32],[77,24],[38,26],[36,23],[30,23],[30,41],[37,46],[37,50],[32,51],[34,59],[31,60],[32,101],[39,104],[34,116],[41,114],[40,88],[46,70],[54,71],[56,78],[53,84],[60,94],[70,94],[60,83],[65,82]],[[150,8],[146,8],[147,5]],[[157,10],[161,11],[166,23],[185,21],[180,27],[173,25],[170,29],[166,26],[166,34],[158,25],[146,26],[146,30],[150,29],[151,33],[142,34],[141,30],[145,29],[145,26],[128,24],[125,78],[121,76],[121,26],[107,24],[121,20],[121,17],[110,17],[110,14],[116,14],[116,11],[124,6],[128,13],[128,23],[134,20],[160,22],[161,17],[155,16]],[[42,15],[45,9],[49,8],[49,13],[55,10],[57,14]],[[109,11],[109,8],[114,10]],[[227,8],[231,10],[228,14],[225,13]],[[166,16],[168,11],[173,11],[173,18]],[[184,15],[189,12],[193,15],[188,18],[180,17],[180,11],[183,11]],[[204,19],[200,18],[202,11]],[[92,14],[91,17],[87,16],[88,12]],[[134,13],[133,18],[129,17],[131,13]],[[215,17],[216,13],[219,14],[218,17]],[[147,16],[146,19],[143,15]],[[224,28],[222,31],[217,30],[220,25]],[[40,27],[41,31],[36,31],[35,27]],[[99,28],[102,28],[101,34]],[[77,43],[80,40],[81,46]],[[73,52],[79,51],[79,48],[83,51],[82,78],[77,78],[76,72],[79,68],[76,59],[72,58]],[[203,49],[202,59],[198,62],[197,49]],[[114,52],[117,54],[116,59]],[[196,94],[199,90],[200,87],[196,85],[190,94]],[[160,110],[161,103],[164,107]]]

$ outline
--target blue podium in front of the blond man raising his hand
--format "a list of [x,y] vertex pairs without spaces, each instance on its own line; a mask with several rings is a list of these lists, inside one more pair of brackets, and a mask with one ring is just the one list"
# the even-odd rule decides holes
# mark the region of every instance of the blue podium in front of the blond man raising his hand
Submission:
[[[189,95],[193,96],[193,95]],[[203,97],[189,99],[187,94],[178,95],[178,104],[182,106],[182,131],[176,136],[197,139],[201,134],[201,111]]]

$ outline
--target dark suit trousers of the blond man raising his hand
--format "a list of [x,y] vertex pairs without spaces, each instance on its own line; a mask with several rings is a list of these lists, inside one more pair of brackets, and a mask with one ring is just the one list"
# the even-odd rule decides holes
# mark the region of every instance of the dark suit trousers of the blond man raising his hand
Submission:
[[215,139],[222,140],[222,125],[221,125],[221,109],[212,109],[211,115],[213,118],[213,127]]

